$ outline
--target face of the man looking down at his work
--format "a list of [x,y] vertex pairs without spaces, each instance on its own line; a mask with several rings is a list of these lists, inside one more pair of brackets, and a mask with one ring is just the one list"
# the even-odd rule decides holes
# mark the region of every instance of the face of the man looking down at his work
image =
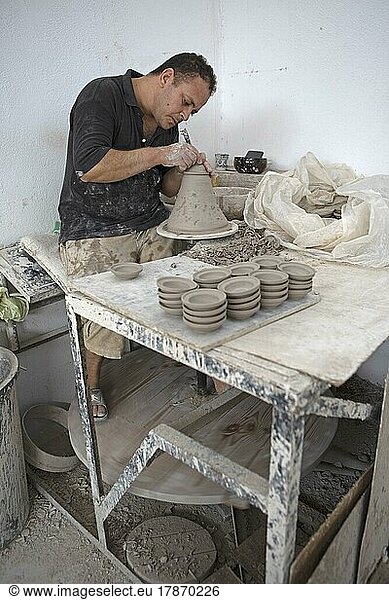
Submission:
[[163,129],[170,129],[187,121],[190,115],[204,106],[210,95],[208,83],[200,76],[175,84],[173,69],[166,69],[161,73],[160,87],[154,117]]

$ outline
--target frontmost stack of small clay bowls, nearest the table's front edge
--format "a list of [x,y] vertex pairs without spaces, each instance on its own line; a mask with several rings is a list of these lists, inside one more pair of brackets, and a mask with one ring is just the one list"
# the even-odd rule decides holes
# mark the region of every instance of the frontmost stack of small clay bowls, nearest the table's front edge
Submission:
[[219,329],[226,320],[227,297],[215,289],[197,289],[182,295],[184,323],[200,333]]

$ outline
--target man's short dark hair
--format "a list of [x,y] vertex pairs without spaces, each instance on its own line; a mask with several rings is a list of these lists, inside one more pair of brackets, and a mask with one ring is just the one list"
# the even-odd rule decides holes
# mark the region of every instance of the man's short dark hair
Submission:
[[194,52],[175,54],[165,60],[162,65],[150,71],[149,75],[159,75],[165,69],[174,69],[175,83],[180,83],[199,75],[201,79],[204,79],[208,83],[210,96],[216,91],[216,75],[211,65],[208,64],[206,58],[201,54],[195,54]]

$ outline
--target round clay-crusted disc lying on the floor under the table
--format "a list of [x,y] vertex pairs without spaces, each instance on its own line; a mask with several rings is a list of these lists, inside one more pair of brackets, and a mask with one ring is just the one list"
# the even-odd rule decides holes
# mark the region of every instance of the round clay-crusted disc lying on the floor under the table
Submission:
[[208,531],[182,517],[144,521],[126,538],[126,560],[145,583],[199,583],[216,560]]

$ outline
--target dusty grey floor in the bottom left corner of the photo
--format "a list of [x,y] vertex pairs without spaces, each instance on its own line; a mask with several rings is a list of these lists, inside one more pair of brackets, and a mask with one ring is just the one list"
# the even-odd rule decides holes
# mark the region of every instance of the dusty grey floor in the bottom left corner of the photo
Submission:
[[[48,500],[35,490],[30,496],[25,528],[0,552],[0,583],[131,583]],[[369,583],[389,583],[389,563],[381,563]]]

